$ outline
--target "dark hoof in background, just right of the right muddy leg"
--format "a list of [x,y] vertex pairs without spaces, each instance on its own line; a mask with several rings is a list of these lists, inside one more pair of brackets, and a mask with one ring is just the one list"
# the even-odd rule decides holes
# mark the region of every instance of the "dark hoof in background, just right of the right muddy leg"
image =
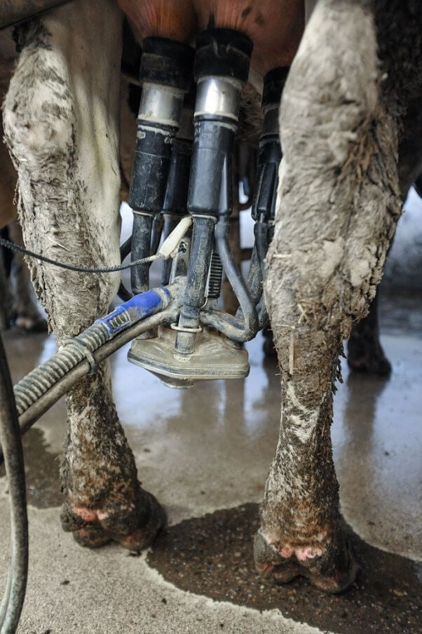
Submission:
[[348,340],[347,349],[347,364],[353,372],[367,372],[367,374],[381,377],[390,375],[391,364],[378,339],[352,334]]

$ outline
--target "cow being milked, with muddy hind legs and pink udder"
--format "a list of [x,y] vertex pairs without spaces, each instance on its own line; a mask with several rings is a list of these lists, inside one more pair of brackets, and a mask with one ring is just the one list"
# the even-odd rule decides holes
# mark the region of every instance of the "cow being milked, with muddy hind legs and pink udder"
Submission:
[[[264,284],[281,372],[281,424],[254,555],[261,574],[340,592],[358,572],[341,532],[330,440],[341,342],[367,312],[402,199],[421,166],[422,8],[416,0],[74,0],[16,31],[4,102],[28,248],[119,258],[118,102],[123,11],[137,37],[189,43],[212,22],[254,43],[252,77],[291,65],[284,158]],[[306,6],[305,6],[306,5]],[[315,5],[315,7],[314,7]],[[304,28],[306,21],[306,28]],[[107,311],[116,274],[31,262],[60,344]],[[67,394],[62,525],[82,546],[139,550],[165,523],[137,480],[109,368]]]

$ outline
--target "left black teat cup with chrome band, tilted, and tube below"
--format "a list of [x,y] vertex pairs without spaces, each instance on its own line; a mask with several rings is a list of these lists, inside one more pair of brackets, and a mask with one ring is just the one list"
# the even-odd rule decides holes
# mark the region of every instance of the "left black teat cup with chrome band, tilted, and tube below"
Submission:
[[[168,39],[148,37],[142,44],[142,97],[128,198],[134,211],[132,261],[152,255],[154,217],[163,209],[172,143],[192,81],[193,55],[191,46]],[[135,294],[148,290],[149,264],[132,269],[131,284]]]

